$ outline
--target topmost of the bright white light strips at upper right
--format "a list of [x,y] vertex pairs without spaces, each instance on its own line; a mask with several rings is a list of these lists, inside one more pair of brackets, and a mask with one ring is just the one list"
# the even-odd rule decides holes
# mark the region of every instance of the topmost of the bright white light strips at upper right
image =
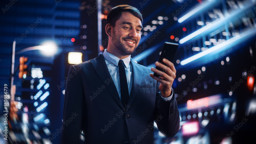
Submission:
[[213,3],[216,3],[215,0],[210,0],[207,1],[203,4],[200,4],[199,6],[197,6],[196,8],[194,8],[193,10],[191,10],[190,12],[188,12],[187,14],[185,14],[184,16],[182,16],[181,18],[178,19],[179,23],[182,23],[184,20],[188,19],[189,17],[191,17],[192,15],[194,15],[195,13],[199,12],[200,10],[202,10],[203,8],[205,8],[206,6],[210,6]]

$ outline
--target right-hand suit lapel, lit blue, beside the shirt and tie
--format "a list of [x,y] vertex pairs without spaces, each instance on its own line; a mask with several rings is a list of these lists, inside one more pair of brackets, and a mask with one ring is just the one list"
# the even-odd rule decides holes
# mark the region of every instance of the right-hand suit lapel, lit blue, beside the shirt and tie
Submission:
[[131,89],[131,93],[129,96],[128,105],[132,104],[132,102],[138,92],[138,89],[141,85],[142,77],[144,75],[143,71],[140,69],[140,65],[135,63],[132,59],[131,59],[131,64],[132,64],[132,76],[133,76],[132,79],[133,80],[132,80],[132,89]]

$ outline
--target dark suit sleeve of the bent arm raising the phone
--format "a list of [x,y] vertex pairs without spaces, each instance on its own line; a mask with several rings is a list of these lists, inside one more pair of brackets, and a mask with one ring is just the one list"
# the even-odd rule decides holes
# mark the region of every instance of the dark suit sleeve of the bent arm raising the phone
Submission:
[[176,98],[174,97],[174,91],[172,90],[172,100],[164,101],[160,95],[160,84],[160,82],[157,82],[155,122],[162,134],[166,137],[174,137],[180,127],[179,110],[177,108]]

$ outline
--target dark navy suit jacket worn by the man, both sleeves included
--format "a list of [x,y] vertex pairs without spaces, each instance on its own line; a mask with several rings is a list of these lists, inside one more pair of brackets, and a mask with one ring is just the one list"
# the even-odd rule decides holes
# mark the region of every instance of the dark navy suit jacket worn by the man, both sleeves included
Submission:
[[122,105],[102,54],[70,67],[65,88],[62,143],[81,143],[83,130],[85,143],[121,144],[128,130],[130,143],[152,144],[154,121],[167,137],[178,132],[180,119],[176,99],[164,101],[160,83],[149,75],[151,70],[132,59],[130,64],[133,80],[126,106]]

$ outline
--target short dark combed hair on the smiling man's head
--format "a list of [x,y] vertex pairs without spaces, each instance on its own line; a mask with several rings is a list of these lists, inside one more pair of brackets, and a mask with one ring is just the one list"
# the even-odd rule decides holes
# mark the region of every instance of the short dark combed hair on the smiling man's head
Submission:
[[115,26],[115,23],[121,17],[122,12],[129,12],[135,17],[139,18],[141,20],[141,23],[143,21],[142,14],[137,8],[129,5],[119,5],[110,10],[107,17],[107,24]]

